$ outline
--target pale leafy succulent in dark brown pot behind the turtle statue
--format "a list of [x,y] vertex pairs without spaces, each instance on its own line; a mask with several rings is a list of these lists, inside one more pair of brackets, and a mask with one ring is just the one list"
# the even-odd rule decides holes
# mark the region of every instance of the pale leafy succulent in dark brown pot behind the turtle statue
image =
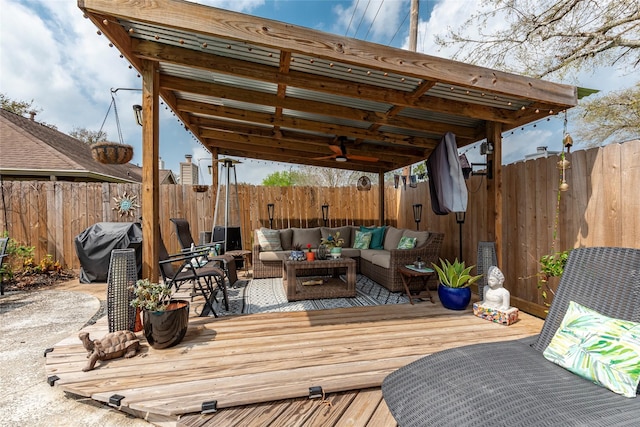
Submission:
[[142,310],[144,336],[156,349],[178,344],[187,333],[189,302],[174,300],[171,287],[164,283],[152,283],[141,279],[133,286],[133,307]]

